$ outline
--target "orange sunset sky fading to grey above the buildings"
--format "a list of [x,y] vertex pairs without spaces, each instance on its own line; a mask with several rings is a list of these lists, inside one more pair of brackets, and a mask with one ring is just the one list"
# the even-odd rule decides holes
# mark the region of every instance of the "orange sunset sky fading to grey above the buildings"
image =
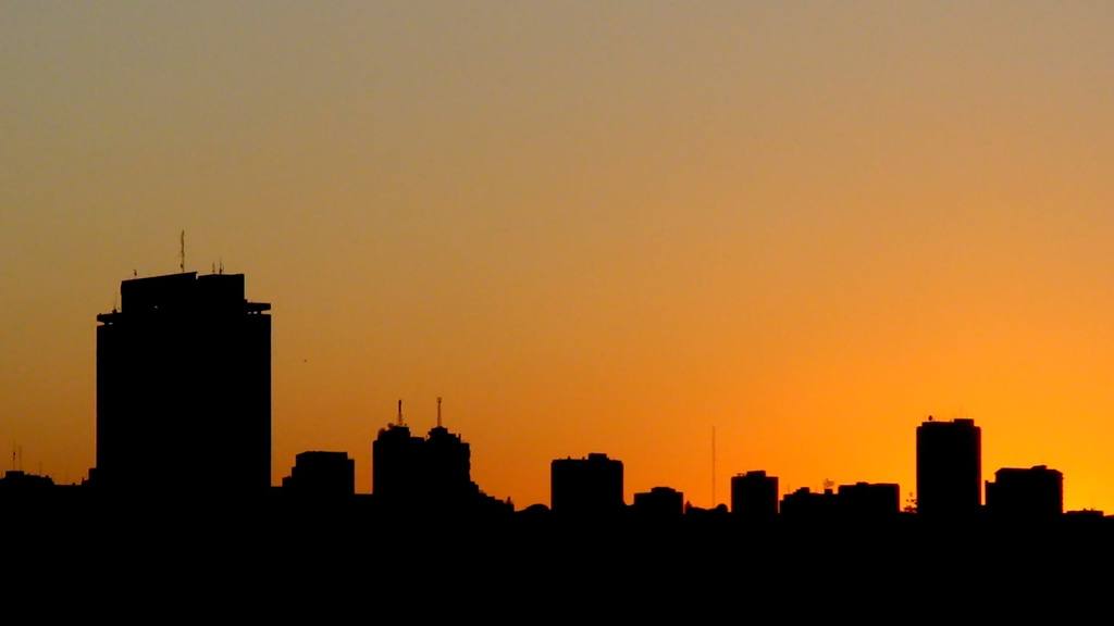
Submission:
[[[548,502],[606,451],[1114,511],[1108,2],[6,2],[0,437],[94,462],[95,316],[223,260],[274,304],[273,478],[407,402]],[[201,374],[201,373],[199,373]],[[204,462],[197,451],[195,462]],[[10,458],[2,467],[9,467]]]

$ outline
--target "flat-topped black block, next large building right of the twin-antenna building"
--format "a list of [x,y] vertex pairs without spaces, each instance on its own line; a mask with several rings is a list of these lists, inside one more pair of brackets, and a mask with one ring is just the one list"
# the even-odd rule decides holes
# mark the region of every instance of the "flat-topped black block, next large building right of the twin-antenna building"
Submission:
[[607,454],[556,459],[549,479],[554,515],[608,516],[623,510],[623,461]]

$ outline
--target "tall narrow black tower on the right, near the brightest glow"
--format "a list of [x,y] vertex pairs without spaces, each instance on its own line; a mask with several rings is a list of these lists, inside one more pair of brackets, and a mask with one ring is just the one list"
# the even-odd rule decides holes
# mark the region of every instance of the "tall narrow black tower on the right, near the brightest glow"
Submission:
[[983,500],[983,431],[973,420],[917,427],[917,512],[929,519],[971,518]]

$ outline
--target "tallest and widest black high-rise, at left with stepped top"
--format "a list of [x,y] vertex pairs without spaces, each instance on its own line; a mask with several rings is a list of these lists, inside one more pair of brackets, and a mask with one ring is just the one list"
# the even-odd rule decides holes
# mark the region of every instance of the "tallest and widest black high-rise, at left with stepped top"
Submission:
[[270,309],[243,274],[120,284],[120,310],[97,315],[97,488],[266,492]]

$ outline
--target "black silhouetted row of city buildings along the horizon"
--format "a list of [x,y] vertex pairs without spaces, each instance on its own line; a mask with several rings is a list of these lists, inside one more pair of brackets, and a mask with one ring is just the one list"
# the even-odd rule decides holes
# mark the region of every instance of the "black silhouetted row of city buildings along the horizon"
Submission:
[[[120,283],[119,306],[97,315],[97,462],[80,486],[96,497],[135,502],[260,502],[266,493],[292,501],[340,502],[359,496],[356,466],[345,450],[303,450],[280,485],[266,480],[273,463],[270,303],[247,297],[244,274],[185,271],[133,276]],[[498,519],[516,512],[511,498],[485,493],[471,476],[471,446],[437,422],[424,437],[395,419],[371,443],[371,492],[378,515],[450,515]],[[916,430],[917,482],[901,505],[893,482],[824,480],[779,489],[765,469],[731,471],[730,510],[740,521],[768,525],[788,501],[795,521],[877,522],[915,512],[929,524],[1055,520],[1064,512],[1064,477],[1046,464],[1000,468],[983,481],[981,428],[971,419],[929,415]],[[712,433],[715,477],[715,433]],[[12,451],[3,482],[18,495],[55,482],[27,472]],[[280,491],[275,488],[281,487]],[[635,519],[680,519],[694,503],[668,485],[626,498],[624,463],[606,452],[550,462],[548,507],[558,519],[600,520],[631,510]],[[984,505],[985,492],[985,505]],[[529,513],[532,505],[518,509]],[[683,505],[683,509],[682,509]],[[700,509],[698,505],[696,505]],[[704,510],[722,508],[712,501]],[[1085,511],[1101,513],[1095,509]],[[365,515],[365,513],[364,513]]]

